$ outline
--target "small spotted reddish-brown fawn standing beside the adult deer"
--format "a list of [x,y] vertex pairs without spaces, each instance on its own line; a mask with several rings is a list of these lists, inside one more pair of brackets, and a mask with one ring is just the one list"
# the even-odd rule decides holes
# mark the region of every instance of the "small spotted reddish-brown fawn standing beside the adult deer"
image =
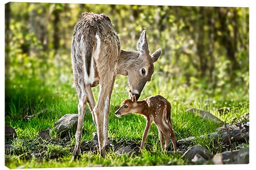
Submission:
[[[135,96],[132,99],[125,100],[120,108],[115,112],[116,116],[121,116],[127,113],[139,113],[146,119],[146,127],[142,137],[142,143],[140,146],[139,153],[144,147],[145,140],[150,130],[152,122],[155,122],[158,132],[159,139],[161,142],[161,148],[163,151],[163,134],[165,136],[165,150],[168,150],[169,138],[173,142],[174,151],[177,151],[176,137],[173,132],[172,120],[170,119],[170,103],[163,98],[161,95],[150,96],[142,101],[136,101]],[[163,133],[163,134],[162,134]]]

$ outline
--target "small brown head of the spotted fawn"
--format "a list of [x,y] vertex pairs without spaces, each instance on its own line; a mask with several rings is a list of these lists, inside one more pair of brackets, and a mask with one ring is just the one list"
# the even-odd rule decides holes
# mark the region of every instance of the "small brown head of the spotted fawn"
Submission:
[[137,102],[136,102],[136,96],[133,95],[132,99],[127,99],[123,101],[120,108],[115,112],[116,116],[121,116],[127,113],[131,112],[137,112]]

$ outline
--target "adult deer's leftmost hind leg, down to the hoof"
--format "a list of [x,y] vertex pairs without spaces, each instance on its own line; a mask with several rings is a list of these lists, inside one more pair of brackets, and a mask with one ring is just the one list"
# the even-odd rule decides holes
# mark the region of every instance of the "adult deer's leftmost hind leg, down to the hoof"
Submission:
[[82,132],[82,125],[83,125],[83,117],[84,113],[86,112],[86,102],[87,102],[87,94],[84,89],[84,83],[81,82],[79,86],[76,86],[77,93],[78,93],[78,123],[77,123],[77,129],[76,129],[76,144],[73,151],[73,158],[76,159],[77,157],[81,156],[81,150],[80,150],[80,142],[81,142],[81,132]]

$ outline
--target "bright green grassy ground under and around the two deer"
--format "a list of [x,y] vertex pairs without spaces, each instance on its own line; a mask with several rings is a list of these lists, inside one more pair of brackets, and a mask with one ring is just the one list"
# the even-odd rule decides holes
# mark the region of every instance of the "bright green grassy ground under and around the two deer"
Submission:
[[[179,87],[175,89],[173,82],[163,79],[154,74],[152,81],[144,87],[140,99],[150,95],[161,94],[172,105],[172,120],[176,132],[183,138],[199,136],[215,132],[218,125],[210,120],[202,120],[199,116],[193,116],[186,112],[188,108],[198,108],[210,111],[223,121],[231,123],[235,117],[241,117],[249,112],[249,97],[246,92],[229,92],[225,95],[207,96],[207,93],[193,88]],[[128,97],[127,78],[117,77],[111,98],[111,111],[109,118],[109,136],[115,140],[131,140],[140,143],[145,128],[146,120],[137,114],[127,114],[115,117],[115,107]],[[95,98],[98,97],[98,87],[94,88]],[[71,162],[72,151],[75,145],[74,133],[71,133],[71,141],[68,143],[40,143],[36,135],[41,130],[53,126],[57,119],[67,113],[77,113],[77,94],[75,88],[61,85],[58,88],[40,86],[36,82],[24,83],[23,86],[11,84],[6,88],[6,113],[5,125],[12,126],[17,132],[17,138],[6,143],[14,147],[13,155],[5,156],[5,164],[9,168],[36,168],[36,167],[84,167],[84,166],[144,166],[144,165],[166,165],[169,161],[173,165],[184,165],[186,161],[181,159],[182,155],[151,154],[153,151],[161,151],[158,131],[155,124],[151,126],[141,155],[116,156],[108,153],[105,159],[99,159],[99,154],[84,153],[79,161]],[[220,114],[218,108],[229,107],[231,111]],[[46,109],[48,111],[46,111]],[[23,120],[26,114],[41,112],[30,120]],[[239,119],[234,122],[238,122]],[[92,133],[96,132],[92,115],[88,112],[84,117],[82,141],[91,140]],[[58,137],[51,134],[51,137]],[[177,139],[180,139],[176,135]],[[221,143],[210,139],[203,141],[198,139],[193,144],[201,144],[212,154],[223,150]],[[236,143],[233,143],[236,145]],[[249,141],[246,143],[249,145]],[[172,144],[169,143],[173,151]],[[44,151],[44,159],[37,159],[33,153]],[[57,154],[57,156],[56,156]],[[54,156],[55,155],[55,156]],[[207,163],[206,163],[207,164]]]

